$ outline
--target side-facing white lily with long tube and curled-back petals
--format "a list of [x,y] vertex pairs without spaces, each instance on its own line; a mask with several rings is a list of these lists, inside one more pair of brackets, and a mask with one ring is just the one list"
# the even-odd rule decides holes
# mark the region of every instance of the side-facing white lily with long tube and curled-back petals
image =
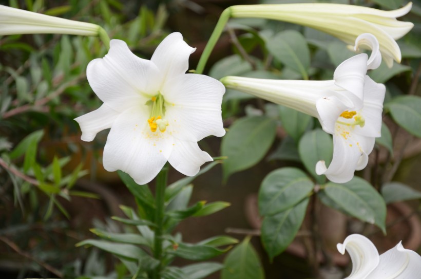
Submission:
[[333,135],[333,159],[329,168],[316,164],[316,173],[331,181],[345,183],[355,170],[362,170],[380,137],[381,112],[386,87],[366,75],[381,62],[378,42],[372,34],[361,34],[355,41],[372,49],[370,58],[361,53],[342,62],[333,80],[297,81],[224,77],[221,82],[277,104],[316,117],[323,130]]

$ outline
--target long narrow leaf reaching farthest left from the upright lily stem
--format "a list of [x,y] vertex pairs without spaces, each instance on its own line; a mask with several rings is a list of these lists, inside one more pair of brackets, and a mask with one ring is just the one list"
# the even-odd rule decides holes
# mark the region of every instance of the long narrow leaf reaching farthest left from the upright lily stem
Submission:
[[116,256],[138,261],[139,258],[146,255],[146,253],[135,245],[112,243],[105,240],[86,239],[76,244],[76,247],[80,246],[94,246],[101,250],[107,251]]

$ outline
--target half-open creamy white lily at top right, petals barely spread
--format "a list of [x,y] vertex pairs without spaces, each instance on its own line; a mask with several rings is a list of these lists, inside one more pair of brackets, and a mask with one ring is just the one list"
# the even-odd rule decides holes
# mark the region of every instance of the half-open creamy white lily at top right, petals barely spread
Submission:
[[389,67],[393,60],[400,63],[400,49],[395,40],[402,38],[414,26],[396,17],[407,14],[412,3],[394,11],[328,3],[238,5],[229,7],[232,17],[269,18],[304,25],[336,36],[353,44],[358,35],[371,33],[380,43],[380,52]]

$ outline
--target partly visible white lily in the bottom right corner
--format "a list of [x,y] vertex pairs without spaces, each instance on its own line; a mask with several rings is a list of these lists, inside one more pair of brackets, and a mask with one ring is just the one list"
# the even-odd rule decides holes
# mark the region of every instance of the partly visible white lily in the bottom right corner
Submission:
[[374,244],[367,237],[351,234],[343,244],[337,244],[343,255],[351,256],[352,271],[346,279],[412,279],[421,274],[421,256],[405,249],[400,241],[394,248],[378,255]]

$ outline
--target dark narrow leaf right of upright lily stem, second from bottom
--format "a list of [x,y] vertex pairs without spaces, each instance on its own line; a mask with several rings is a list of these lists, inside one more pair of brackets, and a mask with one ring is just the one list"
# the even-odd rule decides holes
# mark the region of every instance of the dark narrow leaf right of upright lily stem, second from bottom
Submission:
[[181,258],[190,259],[191,261],[204,261],[205,259],[219,256],[231,249],[231,246],[225,249],[217,249],[212,246],[188,243],[178,243],[173,247],[175,247],[175,249],[168,250],[168,253]]

